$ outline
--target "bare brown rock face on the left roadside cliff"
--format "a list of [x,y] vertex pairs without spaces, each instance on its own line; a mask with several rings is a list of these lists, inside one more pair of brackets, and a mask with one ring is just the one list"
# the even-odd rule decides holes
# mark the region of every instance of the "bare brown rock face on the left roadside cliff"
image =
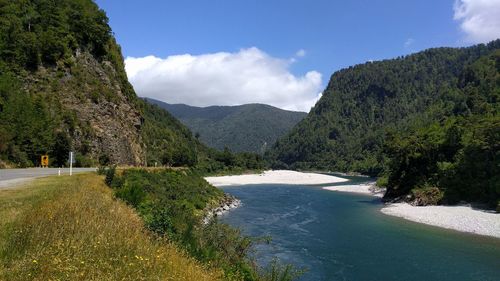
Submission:
[[71,66],[40,68],[26,82],[29,93],[56,97],[70,113],[66,123],[70,123],[74,149],[101,162],[144,162],[143,118],[135,97],[126,94],[130,86],[124,85],[111,63],[78,52]]

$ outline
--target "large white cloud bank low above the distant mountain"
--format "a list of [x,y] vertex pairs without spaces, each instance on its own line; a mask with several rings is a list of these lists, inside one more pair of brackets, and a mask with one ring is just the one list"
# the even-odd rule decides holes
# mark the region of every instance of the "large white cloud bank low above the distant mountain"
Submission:
[[[305,54],[305,52],[304,52]],[[290,73],[290,60],[258,48],[236,53],[128,57],[125,69],[137,94],[194,106],[264,103],[309,111],[319,99],[321,74]]]

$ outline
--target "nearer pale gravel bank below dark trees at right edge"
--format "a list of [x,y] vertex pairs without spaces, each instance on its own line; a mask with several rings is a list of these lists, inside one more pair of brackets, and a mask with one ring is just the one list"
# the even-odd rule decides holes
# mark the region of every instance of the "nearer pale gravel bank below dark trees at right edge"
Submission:
[[467,206],[389,204],[382,213],[414,222],[500,238],[500,214]]

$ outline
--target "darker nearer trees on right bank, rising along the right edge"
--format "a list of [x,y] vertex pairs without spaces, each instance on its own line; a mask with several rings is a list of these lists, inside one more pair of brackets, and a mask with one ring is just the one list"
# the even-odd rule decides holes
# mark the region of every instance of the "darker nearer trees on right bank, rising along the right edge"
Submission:
[[493,208],[498,204],[499,66],[497,50],[466,68],[459,85],[464,102],[453,106],[460,114],[388,138],[386,198],[434,186],[447,203],[486,202]]

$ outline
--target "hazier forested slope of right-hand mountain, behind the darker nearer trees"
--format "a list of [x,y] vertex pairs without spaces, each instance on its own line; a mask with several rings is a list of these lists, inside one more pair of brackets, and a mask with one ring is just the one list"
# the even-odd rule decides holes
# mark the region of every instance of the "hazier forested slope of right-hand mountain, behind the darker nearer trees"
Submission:
[[267,154],[276,168],[357,171],[387,163],[388,134],[448,116],[498,114],[500,40],[438,48],[333,74],[320,101]]

